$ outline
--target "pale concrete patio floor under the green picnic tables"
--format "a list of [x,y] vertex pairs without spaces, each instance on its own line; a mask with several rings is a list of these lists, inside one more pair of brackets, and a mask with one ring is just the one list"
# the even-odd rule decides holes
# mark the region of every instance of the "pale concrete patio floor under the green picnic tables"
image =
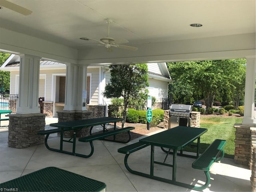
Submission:
[[[58,119],[46,118],[46,129],[51,128],[49,124],[54,122],[58,122]],[[8,121],[1,122],[1,125],[5,124],[8,125]],[[130,143],[137,142],[138,139]],[[128,172],[124,166],[125,155],[117,152],[118,148],[127,144],[96,140],[94,154],[90,158],[81,158],[50,151],[44,144],[24,149],[9,148],[7,140],[8,129],[2,127],[0,128],[0,183],[48,166],[55,166],[102,181],[106,183],[106,191],[193,191]],[[57,134],[52,134],[48,144],[58,147],[59,140]],[[64,147],[71,151],[70,143],[65,143]],[[90,146],[87,143],[77,142],[76,150],[76,152],[88,154]],[[155,160],[163,161],[165,156],[166,154],[160,148],[155,148]],[[169,155],[166,162],[171,161],[172,155]],[[193,158],[178,156],[177,181],[187,184],[204,184],[206,180],[204,172],[193,169],[191,167],[193,161]],[[131,154],[128,162],[134,170],[149,173],[150,147]],[[156,164],[154,172],[156,175],[170,178],[172,168]],[[224,158],[220,163],[214,163],[210,176],[210,185],[203,190],[204,192],[251,191],[251,171],[247,166],[234,164],[233,159]]]

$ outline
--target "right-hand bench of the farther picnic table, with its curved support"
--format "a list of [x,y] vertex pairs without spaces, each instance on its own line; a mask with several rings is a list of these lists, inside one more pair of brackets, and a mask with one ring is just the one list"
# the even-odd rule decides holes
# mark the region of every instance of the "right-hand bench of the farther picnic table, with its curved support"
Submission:
[[[135,129],[135,127],[125,127],[125,128],[112,130],[112,131],[103,132],[103,133],[100,133],[100,134],[95,134],[95,135],[90,135],[90,136],[87,136],[87,137],[79,138],[78,141],[80,141],[80,142],[90,142],[91,152],[88,155],[84,155],[84,157],[88,158],[88,157],[92,156],[92,154],[94,152],[94,146],[93,146],[92,142],[94,140],[101,139],[101,140],[107,140],[107,141],[113,141],[113,142],[119,142],[119,143],[128,143],[131,140],[130,130],[133,130],[133,129]],[[128,133],[129,138],[128,138],[127,141],[118,141],[118,140],[115,139],[115,135],[120,134],[122,132],[127,132]],[[113,139],[106,138],[106,137],[109,137],[109,136],[114,136],[114,138]]]

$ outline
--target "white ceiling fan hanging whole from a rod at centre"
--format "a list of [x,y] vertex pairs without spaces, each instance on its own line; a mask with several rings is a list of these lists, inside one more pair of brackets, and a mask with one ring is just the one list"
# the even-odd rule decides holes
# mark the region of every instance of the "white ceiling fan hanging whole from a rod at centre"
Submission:
[[99,45],[99,46],[105,46],[107,51],[112,51],[112,47],[116,48],[122,48],[122,49],[127,49],[127,50],[132,50],[136,51],[138,50],[137,47],[132,47],[132,46],[126,46],[126,45],[120,45],[123,43],[128,43],[129,41],[126,39],[120,39],[120,40],[115,40],[114,38],[109,36],[109,28],[110,28],[110,23],[112,23],[112,19],[106,19],[106,23],[108,24],[108,33],[107,36],[104,38],[101,38],[100,40],[88,38],[88,37],[81,37],[80,39],[82,40],[94,40],[100,44],[90,44],[90,45]]

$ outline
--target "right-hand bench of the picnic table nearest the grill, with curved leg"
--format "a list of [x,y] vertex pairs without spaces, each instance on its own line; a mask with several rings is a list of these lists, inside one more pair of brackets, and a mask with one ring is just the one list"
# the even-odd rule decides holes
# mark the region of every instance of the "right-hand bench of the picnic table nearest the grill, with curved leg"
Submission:
[[226,140],[216,139],[208,148],[192,163],[192,168],[204,171],[206,183],[203,186],[195,186],[195,190],[204,190],[210,184],[210,167],[214,162],[224,157],[224,146]]

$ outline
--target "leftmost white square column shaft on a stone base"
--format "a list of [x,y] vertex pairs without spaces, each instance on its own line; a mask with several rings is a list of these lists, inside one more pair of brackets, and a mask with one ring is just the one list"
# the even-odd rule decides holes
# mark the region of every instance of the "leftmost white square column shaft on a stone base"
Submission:
[[40,58],[20,54],[17,114],[40,113],[38,104]]

